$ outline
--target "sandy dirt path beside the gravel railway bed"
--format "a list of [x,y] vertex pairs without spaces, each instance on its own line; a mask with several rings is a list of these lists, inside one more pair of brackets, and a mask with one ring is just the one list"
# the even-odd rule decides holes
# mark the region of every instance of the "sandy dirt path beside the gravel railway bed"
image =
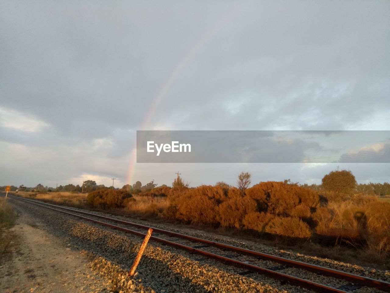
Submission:
[[16,235],[11,253],[0,263],[0,292],[109,291],[80,252],[40,227],[26,214],[18,217],[11,229]]

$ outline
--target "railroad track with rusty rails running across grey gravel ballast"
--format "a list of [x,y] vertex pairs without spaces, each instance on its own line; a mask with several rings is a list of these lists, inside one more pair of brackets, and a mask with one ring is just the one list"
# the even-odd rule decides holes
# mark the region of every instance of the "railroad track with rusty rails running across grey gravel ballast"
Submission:
[[[124,232],[135,234],[138,236],[145,236],[145,233],[140,232],[140,230],[147,230],[152,228],[154,234],[151,236],[151,240],[158,241],[165,245],[175,247],[181,250],[186,250],[191,253],[199,254],[207,258],[215,259],[225,264],[230,264],[244,269],[244,272],[241,272],[241,275],[248,275],[250,273],[259,273],[266,275],[268,277],[281,280],[282,282],[288,282],[289,284],[295,286],[301,286],[304,288],[312,289],[317,292],[337,292],[337,293],[346,293],[353,292],[357,289],[364,289],[364,287],[377,288],[386,292],[390,292],[390,283],[382,280],[376,280],[368,277],[363,277],[360,275],[354,275],[351,273],[342,272],[339,270],[333,270],[330,268],[317,266],[314,264],[303,263],[300,261],[294,261],[291,259],[286,259],[283,257],[278,257],[275,255],[264,254],[254,250],[248,250],[245,248],[235,247],[227,245],[224,243],[219,243],[215,241],[210,241],[207,239],[196,238],[193,236],[188,236],[168,230],[158,229],[154,227],[149,227],[137,223],[127,222],[118,220],[115,218],[110,218],[107,216],[102,216],[98,214],[88,213],[85,211],[78,211],[76,209],[71,209],[67,207],[60,207],[58,205],[47,204],[44,202],[39,202],[36,200],[31,200],[28,198],[21,198],[9,195],[8,197],[12,199],[21,200],[23,202],[28,202],[30,204],[39,205],[47,209],[55,210],[61,213],[69,214],[71,216],[91,221],[100,225],[105,225],[107,227],[118,229]],[[82,216],[87,215],[87,216]],[[99,219],[99,220],[97,220]],[[101,220],[106,220],[108,222],[102,222]],[[119,223],[119,225],[114,225],[113,223]],[[136,230],[131,230],[123,226],[132,226]],[[161,236],[168,236],[170,239],[161,238]],[[174,239],[172,239],[174,238]],[[200,243],[200,245],[194,246],[193,243]],[[202,248],[202,249],[200,249]],[[226,255],[226,252],[230,254]],[[234,254],[231,254],[233,252]],[[205,260],[205,259],[199,259]],[[281,264],[281,265],[280,265]],[[296,270],[304,270],[303,275],[310,277],[310,273],[316,274],[316,277],[319,275],[326,276],[323,281],[326,282],[328,278],[336,278],[345,280],[345,284],[339,286],[338,288],[333,288],[318,282],[313,282],[311,280],[302,279],[291,274],[278,272],[286,270],[287,268],[295,268]],[[299,275],[299,274],[298,274]],[[302,275],[302,272],[301,272]],[[330,281],[330,283],[332,283]]]

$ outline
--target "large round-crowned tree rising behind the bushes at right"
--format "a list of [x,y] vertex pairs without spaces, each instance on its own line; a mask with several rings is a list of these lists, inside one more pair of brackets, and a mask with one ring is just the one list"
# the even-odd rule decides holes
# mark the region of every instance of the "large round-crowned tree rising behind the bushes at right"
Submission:
[[351,171],[335,170],[326,174],[322,179],[322,186],[325,190],[336,193],[348,193],[356,189],[356,179]]

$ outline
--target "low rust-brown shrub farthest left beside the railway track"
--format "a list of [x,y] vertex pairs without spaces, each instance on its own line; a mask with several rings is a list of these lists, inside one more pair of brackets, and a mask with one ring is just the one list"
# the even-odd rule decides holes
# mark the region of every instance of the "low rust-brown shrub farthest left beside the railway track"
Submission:
[[129,197],[131,194],[124,189],[97,189],[88,194],[87,202],[100,209],[119,208],[124,206],[124,200]]

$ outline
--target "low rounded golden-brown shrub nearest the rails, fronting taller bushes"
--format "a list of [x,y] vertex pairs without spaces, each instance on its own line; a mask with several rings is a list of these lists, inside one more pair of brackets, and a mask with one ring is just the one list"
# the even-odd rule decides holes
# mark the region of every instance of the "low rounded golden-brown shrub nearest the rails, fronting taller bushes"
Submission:
[[297,217],[275,216],[265,228],[265,232],[294,238],[310,238],[309,225]]

